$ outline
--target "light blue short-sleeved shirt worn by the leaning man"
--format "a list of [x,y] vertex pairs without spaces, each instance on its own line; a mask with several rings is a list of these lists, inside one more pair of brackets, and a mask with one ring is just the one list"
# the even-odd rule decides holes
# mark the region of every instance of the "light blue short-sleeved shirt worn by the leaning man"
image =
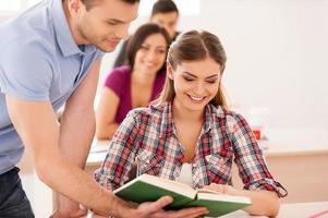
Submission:
[[78,47],[61,0],[46,0],[0,24],[0,174],[21,159],[24,147],[7,111],[5,95],[50,101],[58,110],[102,52]]

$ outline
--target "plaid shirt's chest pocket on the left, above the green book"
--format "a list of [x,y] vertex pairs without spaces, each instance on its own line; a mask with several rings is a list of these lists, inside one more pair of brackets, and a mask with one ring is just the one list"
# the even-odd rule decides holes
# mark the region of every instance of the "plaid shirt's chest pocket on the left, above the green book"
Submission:
[[137,157],[137,173],[157,175],[161,172],[165,158],[150,150],[143,150]]

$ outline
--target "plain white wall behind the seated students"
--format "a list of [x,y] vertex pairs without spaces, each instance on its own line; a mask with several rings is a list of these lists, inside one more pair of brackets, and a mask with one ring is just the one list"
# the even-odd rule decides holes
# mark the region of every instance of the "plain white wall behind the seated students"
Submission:
[[[182,16],[180,29],[221,38],[226,89],[238,110],[267,107],[271,128],[328,129],[327,0],[201,2],[201,14]],[[145,21],[139,17],[132,29]],[[114,56],[107,57],[106,73]]]

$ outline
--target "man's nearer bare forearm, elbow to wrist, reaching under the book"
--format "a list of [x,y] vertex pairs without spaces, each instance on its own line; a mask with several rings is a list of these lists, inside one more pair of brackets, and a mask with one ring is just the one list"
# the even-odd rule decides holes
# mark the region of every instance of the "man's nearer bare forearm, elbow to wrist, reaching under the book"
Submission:
[[[47,168],[38,169],[37,166],[47,166]],[[39,159],[37,166],[37,172],[46,184],[88,208],[117,216],[122,216],[121,213],[130,208],[126,203],[101,187],[82,169],[62,159],[59,155],[53,155],[51,159]],[[49,173],[49,169],[53,169],[52,173]]]

